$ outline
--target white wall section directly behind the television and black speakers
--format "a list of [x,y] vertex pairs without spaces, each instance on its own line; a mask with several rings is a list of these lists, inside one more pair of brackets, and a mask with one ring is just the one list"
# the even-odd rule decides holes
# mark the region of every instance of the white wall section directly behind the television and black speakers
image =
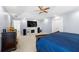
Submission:
[[35,33],[37,33],[37,27],[27,27],[27,21],[36,21],[36,20],[33,20],[33,19],[23,19],[23,20],[21,20],[21,22],[20,22],[20,32],[21,32],[21,34],[23,33],[23,29],[26,29],[27,34],[30,34],[32,29],[34,29]]

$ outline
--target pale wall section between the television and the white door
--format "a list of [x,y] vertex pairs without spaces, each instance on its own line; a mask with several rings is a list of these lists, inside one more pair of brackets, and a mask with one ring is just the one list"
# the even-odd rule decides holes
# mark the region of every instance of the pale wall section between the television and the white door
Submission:
[[52,33],[52,18],[39,20],[38,27],[40,27],[44,33]]

